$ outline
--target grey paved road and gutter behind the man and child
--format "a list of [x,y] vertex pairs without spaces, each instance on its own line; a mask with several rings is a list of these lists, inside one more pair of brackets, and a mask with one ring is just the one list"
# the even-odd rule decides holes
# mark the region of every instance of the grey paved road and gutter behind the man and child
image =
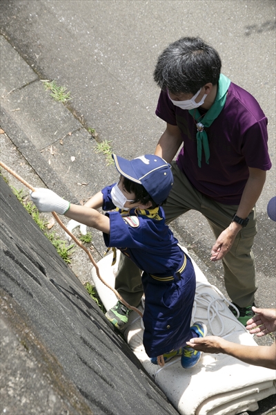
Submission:
[[[1,160],[23,174],[16,148],[40,183],[76,203],[117,179],[97,152],[99,142],[108,140],[110,151],[126,158],[155,150],[165,127],[155,116],[159,90],[152,80],[159,53],[184,35],[199,35],[218,50],[222,72],[268,117],[273,167],[257,202],[254,252],[257,305],[275,307],[276,223],[266,214],[276,194],[275,1],[2,0],[0,15]],[[71,99],[53,100],[43,80],[65,86]],[[171,227],[226,295],[222,266],[209,259],[215,239],[204,217],[188,212]],[[92,233],[100,259],[103,240]]]

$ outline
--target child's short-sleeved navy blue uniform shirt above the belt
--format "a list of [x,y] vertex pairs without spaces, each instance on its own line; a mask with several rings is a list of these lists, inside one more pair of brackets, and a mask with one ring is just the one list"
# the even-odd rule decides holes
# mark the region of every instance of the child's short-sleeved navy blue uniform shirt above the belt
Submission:
[[[103,210],[112,210],[116,206],[110,196],[110,185],[101,190],[103,194]],[[165,224],[164,210],[159,208],[155,219],[141,212],[151,213],[153,210],[140,211],[131,209],[120,213],[107,212],[110,219],[110,234],[103,234],[108,247],[115,247],[127,255],[146,273],[159,277],[173,275],[181,263],[184,253],[177,245],[168,225]],[[125,217],[124,217],[125,216]],[[132,216],[132,217],[131,217]]]

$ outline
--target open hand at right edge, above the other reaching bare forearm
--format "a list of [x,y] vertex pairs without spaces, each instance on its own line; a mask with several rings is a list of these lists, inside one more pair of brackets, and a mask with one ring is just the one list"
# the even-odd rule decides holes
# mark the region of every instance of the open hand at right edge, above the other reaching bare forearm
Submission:
[[276,331],[276,308],[256,308],[252,307],[254,313],[246,323],[246,330],[250,333],[257,333],[258,337]]

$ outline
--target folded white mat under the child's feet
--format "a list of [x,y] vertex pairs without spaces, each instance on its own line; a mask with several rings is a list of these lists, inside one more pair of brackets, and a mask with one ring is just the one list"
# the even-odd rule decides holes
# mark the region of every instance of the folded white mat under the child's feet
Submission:
[[[118,251],[117,264],[119,254]],[[114,287],[117,264],[111,266],[111,263],[112,255],[108,255],[97,265],[101,277]],[[208,283],[195,261],[193,265],[197,289],[191,325],[200,320],[206,324],[208,335],[220,335],[231,342],[257,346],[253,336],[229,311],[224,296]],[[108,310],[117,303],[117,297],[99,280],[95,268],[92,269],[92,279]],[[143,306],[139,308],[143,311]],[[162,368],[153,365],[144,350],[142,327],[141,317],[131,313],[124,330],[126,341],[180,414],[235,415],[247,410],[255,411],[258,400],[276,393],[275,371],[248,365],[222,353],[202,353],[201,360],[192,369],[183,369],[180,358],[170,360]]]

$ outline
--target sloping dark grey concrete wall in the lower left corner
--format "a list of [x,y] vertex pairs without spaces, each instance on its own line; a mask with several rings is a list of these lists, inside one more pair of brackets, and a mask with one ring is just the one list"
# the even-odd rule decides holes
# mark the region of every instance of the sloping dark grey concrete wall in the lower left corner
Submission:
[[1,178],[1,413],[177,414]]

